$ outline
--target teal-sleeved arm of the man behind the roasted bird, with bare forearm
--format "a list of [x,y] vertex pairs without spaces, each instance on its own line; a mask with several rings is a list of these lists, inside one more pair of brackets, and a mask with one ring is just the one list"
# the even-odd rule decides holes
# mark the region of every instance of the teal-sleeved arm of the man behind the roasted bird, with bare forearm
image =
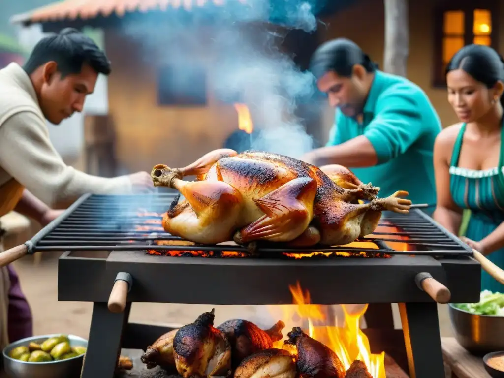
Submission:
[[313,150],[309,157],[319,166],[341,164],[351,168],[383,164],[403,154],[424,130],[415,95],[409,88],[389,88],[377,100],[376,113],[364,135]]

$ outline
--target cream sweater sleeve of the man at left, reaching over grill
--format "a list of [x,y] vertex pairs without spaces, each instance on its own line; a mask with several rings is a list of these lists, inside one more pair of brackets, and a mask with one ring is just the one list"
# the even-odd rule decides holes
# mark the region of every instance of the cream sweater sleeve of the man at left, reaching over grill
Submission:
[[128,176],[92,176],[66,165],[49,140],[45,120],[30,111],[0,127],[0,166],[51,207],[66,207],[87,193],[132,192]]

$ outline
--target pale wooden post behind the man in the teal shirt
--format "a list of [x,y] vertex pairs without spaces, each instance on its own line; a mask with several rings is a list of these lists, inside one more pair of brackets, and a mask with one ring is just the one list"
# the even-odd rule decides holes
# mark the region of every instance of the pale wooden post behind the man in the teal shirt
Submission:
[[384,0],[384,71],[406,77],[409,54],[408,0]]

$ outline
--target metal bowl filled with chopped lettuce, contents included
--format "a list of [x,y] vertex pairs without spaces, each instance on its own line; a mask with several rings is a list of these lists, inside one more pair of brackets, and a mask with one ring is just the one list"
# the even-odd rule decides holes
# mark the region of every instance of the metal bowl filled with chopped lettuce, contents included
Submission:
[[483,290],[479,302],[451,303],[449,312],[455,337],[466,350],[504,350],[504,294]]

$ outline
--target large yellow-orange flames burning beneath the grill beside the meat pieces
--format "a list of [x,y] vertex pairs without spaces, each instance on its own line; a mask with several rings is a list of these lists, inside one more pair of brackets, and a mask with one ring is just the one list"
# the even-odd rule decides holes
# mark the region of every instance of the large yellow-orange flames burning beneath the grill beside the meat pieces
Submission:
[[[310,304],[309,292],[304,291],[303,293],[299,282],[297,282],[296,286],[289,285],[289,289],[292,294],[293,303],[297,306],[294,316],[292,316],[293,314],[286,307],[281,306],[283,307],[282,312],[284,312],[283,319],[288,320],[292,318],[293,320],[301,319],[306,321],[308,329],[304,330],[304,332],[311,338],[320,341],[332,349],[338,355],[346,370],[353,361],[360,360],[365,363],[367,370],[373,378],[386,378],[385,352],[372,354],[369,340],[359,327],[360,320],[367,309],[367,304],[362,306],[342,305],[345,317],[344,327],[336,326],[337,319],[334,320],[333,326],[328,326],[322,307]],[[279,306],[273,307],[278,308]],[[324,323],[326,325],[314,326],[313,323]],[[285,345],[283,340],[277,341],[273,347],[286,349],[292,354],[296,353],[295,346]]]

